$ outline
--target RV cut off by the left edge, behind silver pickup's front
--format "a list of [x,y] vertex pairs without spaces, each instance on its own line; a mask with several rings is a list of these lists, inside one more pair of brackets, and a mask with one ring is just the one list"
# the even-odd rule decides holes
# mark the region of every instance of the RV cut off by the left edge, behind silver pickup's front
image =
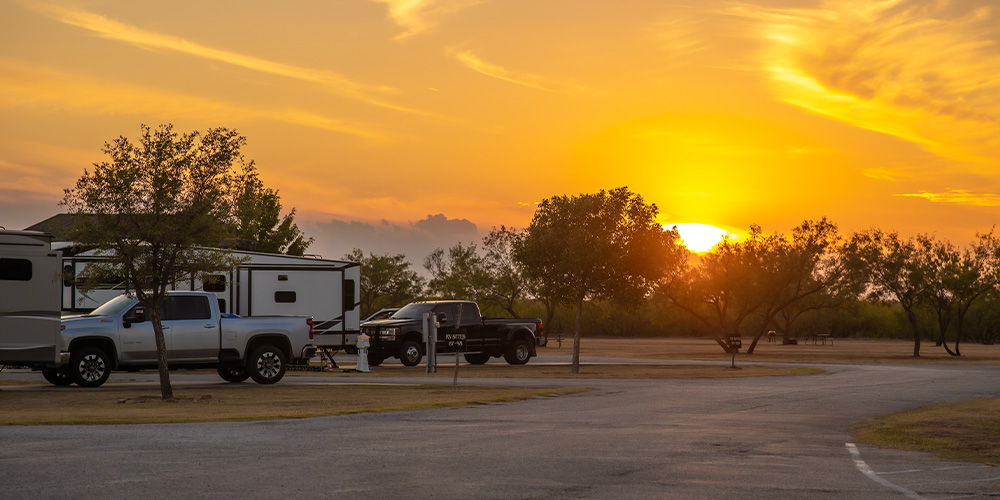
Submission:
[[0,365],[59,362],[59,269],[52,236],[0,230]]

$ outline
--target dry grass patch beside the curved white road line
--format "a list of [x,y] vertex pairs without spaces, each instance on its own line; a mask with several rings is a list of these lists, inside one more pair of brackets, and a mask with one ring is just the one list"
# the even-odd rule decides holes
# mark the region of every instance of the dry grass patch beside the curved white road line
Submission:
[[942,403],[855,424],[859,443],[1000,465],[1000,399]]

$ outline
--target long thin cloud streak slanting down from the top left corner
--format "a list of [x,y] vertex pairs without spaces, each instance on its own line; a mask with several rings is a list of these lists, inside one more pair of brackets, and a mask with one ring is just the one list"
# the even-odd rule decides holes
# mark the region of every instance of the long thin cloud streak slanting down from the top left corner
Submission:
[[179,52],[194,57],[218,61],[233,66],[272,75],[314,83],[334,94],[355,99],[383,108],[418,113],[416,110],[397,106],[373,94],[391,93],[387,86],[367,85],[356,82],[339,73],[321,69],[306,68],[276,61],[270,61],[239,52],[209,47],[180,37],[156,33],[131,26],[100,14],[84,10],[61,7],[46,3],[26,3],[35,11],[59,22],[83,28],[102,38],[117,40],[147,49]]

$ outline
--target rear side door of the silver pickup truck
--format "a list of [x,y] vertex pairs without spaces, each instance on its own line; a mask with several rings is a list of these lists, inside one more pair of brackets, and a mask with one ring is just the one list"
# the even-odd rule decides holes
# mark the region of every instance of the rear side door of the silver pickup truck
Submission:
[[212,317],[209,298],[200,296],[167,297],[170,337],[167,359],[171,361],[216,361],[219,359],[219,323]]

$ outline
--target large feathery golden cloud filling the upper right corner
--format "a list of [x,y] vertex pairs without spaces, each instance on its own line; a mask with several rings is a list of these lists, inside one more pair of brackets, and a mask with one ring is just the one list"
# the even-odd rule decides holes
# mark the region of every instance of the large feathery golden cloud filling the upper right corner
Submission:
[[[752,23],[780,99],[949,158],[1000,157],[990,0],[826,0],[729,11]],[[970,7],[978,4],[978,7]]]

